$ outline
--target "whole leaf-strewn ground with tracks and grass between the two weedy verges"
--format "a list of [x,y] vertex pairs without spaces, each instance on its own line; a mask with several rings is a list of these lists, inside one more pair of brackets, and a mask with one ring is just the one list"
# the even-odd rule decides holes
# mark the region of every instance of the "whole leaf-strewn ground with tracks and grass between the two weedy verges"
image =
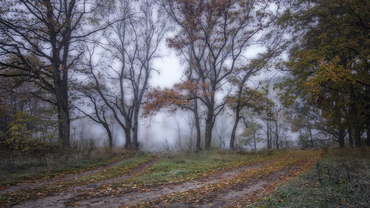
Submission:
[[320,151],[141,154],[0,190],[0,207],[244,207],[309,171]]

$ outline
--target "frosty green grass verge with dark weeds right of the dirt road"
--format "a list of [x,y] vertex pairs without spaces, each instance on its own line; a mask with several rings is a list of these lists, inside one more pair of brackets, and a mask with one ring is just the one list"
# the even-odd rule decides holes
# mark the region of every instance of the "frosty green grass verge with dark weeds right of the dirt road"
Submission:
[[307,174],[245,207],[369,207],[370,151],[329,150]]

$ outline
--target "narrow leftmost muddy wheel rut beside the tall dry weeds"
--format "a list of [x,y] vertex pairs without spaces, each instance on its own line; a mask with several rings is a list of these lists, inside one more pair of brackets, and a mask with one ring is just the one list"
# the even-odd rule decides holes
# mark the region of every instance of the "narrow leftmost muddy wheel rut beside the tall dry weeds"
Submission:
[[55,176],[51,179],[35,180],[35,182],[26,182],[24,184],[2,187],[2,188],[0,188],[0,195],[4,194],[6,192],[14,192],[14,191],[17,191],[17,190],[20,190],[20,189],[35,189],[36,187],[39,187],[39,186],[42,186],[42,185],[53,184],[53,183],[60,182],[60,181],[70,180],[70,179],[73,179],[73,178],[78,178],[78,177],[94,174],[94,173],[97,173],[97,172],[107,170],[108,168],[113,167],[114,165],[117,165],[120,162],[127,161],[127,160],[130,160],[130,159],[132,159],[132,157],[124,158],[122,160],[112,162],[110,164],[104,165],[104,166],[102,166],[100,168],[97,168],[97,169],[94,169],[94,170],[80,171],[80,172],[77,172],[77,173],[67,173],[67,174],[62,174],[62,175]]

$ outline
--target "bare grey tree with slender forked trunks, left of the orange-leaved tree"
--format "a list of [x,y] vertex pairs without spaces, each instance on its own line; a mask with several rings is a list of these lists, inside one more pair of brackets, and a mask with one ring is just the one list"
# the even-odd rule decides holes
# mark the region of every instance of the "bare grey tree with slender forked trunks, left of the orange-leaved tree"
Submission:
[[90,54],[86,56],[88,74],[105,105],[125,131],[125,147],[137,150],[139,113],[151,73],[157,71],[152,61],[161,57],[159,44],[166,32],[166,18],[149,0],[108,3],[111,7],[101,11],[101,21],[113,20],[114,24],[102,31],[100,39],[95,38],[95,44],[104,49],[103,54],[108,61],[94,63],[95,49],[90,48]]

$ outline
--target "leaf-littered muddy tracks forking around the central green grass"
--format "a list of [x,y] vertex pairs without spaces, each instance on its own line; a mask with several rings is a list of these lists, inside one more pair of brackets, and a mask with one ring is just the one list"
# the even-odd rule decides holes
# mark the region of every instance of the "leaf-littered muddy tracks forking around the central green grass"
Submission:
[[[221,171],[207,178],[147,187],[147,189],[132,187],[129,191],[120,192],[114,190],[113,186],[109,188],[110,183],[127,180],[145,172],[158,160],[160,158],[117,178],[70,187],[63,192],[19,202],[13,207],[234,207],[251,201],[250,199],[265,196],[280,182],[295,177],[302,172],[301,169],[317,158],[300,159],[281,167],[275,166],[279,162],[289,160],[289,157],[274,158]],[[269,170],[266,167],[275,167],[275,169]],[[264,171],[265,174],[261,175],[260,171]],[[108,188],[97,191],[101,185]]]

